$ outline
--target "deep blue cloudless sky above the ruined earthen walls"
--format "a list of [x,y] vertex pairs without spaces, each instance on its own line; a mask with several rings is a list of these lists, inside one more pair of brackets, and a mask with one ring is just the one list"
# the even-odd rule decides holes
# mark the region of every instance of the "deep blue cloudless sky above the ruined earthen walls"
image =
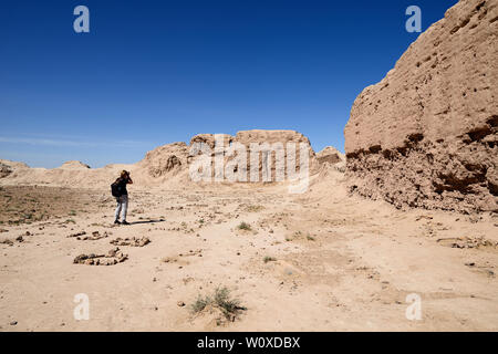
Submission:
[[[343,150],[351,106],[456,0],[0,3],[0,158],[135,163],[198,133],[295,129]],[[75,33],[73,9],[90,9]]]

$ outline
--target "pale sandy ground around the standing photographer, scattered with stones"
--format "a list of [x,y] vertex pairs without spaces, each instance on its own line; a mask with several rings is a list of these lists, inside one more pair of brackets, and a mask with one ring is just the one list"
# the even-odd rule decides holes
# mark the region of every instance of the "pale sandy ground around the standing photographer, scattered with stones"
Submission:
[[[0,331],[498,330],[498,218],[489,214],[402,211],[347,196],[343,181],[305,195],[134,185],[132,225],[114,226],[107,189],[43,188],[0,191]],[[127,259],[114,266],[73,263],[132,237],[151,242],[118,246]],[[218,287],[246,308],[232,322],[191,310]],[[79,293],[90,320],[74,319]],[[405,315],[412,293],[419,321]]]

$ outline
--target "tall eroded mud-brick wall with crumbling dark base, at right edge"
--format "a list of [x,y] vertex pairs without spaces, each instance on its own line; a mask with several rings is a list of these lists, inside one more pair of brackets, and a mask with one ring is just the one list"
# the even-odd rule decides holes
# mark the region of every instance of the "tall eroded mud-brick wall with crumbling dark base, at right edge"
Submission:
[[344,129],[351,189],[397,207],[498,211],[498,0],[450,8]]

